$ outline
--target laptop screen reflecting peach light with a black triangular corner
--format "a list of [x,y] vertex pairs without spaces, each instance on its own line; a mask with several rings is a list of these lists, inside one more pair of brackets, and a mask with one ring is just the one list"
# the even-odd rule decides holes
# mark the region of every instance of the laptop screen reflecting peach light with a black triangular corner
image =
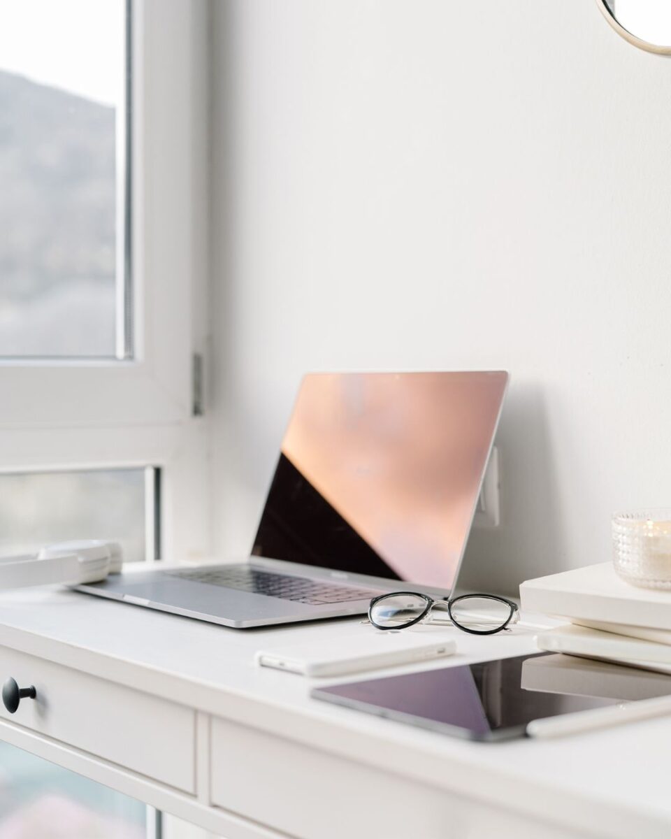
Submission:
[[450,590],[507,373],[304,377],[252,554]]

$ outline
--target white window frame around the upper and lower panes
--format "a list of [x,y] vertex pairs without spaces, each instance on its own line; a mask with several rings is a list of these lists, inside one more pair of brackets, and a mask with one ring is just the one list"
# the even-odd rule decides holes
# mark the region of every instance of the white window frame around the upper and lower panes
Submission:
[[207,343],[209,3],[130,8],[134,357],[0,359],[0,472],[159,467],[163,558],[179,560],[210,538],[192,381]]

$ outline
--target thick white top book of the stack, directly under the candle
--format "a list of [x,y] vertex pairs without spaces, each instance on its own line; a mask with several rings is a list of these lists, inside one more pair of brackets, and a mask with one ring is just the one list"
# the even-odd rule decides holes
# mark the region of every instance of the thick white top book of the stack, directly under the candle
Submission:
[[525,612],[671,630],[671,591],[630,586],[610,562],[528,580],[519,592]]

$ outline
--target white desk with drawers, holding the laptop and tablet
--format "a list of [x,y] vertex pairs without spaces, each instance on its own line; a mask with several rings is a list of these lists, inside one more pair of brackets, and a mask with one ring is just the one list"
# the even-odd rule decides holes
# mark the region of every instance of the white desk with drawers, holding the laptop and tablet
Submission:
[[[310,700],[308,680],[252,664],[262,645],[343,628],[2,597],[0,682],[35,685],[38,701],[0,709],[0,739],[227,839],[671,836],[671,718],[467,743]],[[532,638],[459,633],[449,660],[523,654]]]

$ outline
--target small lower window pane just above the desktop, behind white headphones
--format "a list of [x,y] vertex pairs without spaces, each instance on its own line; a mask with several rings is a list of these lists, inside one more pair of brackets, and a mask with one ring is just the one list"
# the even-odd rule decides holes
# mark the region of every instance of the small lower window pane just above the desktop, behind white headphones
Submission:
[[113,539],[121,542],[124,561],[142,561],[153,528],[146,521],[145,510],[153,518],[146,482],[144,469],[0,475],[0,555],[71,539]]

